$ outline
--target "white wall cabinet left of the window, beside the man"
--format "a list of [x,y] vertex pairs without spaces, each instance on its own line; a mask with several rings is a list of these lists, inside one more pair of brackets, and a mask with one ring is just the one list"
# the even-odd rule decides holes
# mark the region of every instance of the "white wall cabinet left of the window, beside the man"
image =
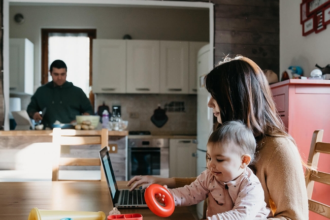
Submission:
[[34,44],[26,38],[9,40],[9,92],[33,95]]

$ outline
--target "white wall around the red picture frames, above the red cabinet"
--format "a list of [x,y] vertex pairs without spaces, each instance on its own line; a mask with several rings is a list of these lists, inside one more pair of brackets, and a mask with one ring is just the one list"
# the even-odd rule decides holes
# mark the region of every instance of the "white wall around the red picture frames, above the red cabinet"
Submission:
[[330,64],[330,25],[318,34],[302,36],[300,4],[302,0],[280,0],[280,72],[300,66],[310,76],[315,64]]

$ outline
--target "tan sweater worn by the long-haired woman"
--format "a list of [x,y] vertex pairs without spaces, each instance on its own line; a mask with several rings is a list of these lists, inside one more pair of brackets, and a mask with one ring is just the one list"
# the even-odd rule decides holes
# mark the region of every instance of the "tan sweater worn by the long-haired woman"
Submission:
[[[298,148],[286,137],[267,136],[252,169],[259,178],[265,202],[273,211],[268,219],[308,219],[308,199]],[[190,184],[196,178],[175,178],[176,187]]]

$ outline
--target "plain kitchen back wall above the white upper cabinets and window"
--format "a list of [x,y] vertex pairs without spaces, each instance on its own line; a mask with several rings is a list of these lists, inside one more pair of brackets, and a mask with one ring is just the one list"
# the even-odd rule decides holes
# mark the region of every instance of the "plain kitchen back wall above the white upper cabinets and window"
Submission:
[[[14,22],[22,13],[23,24]],[[208,9],[96,6],[10,6],[10,38],[35,44],[35,80],[41,82],[41,28],[96,28],[98,39],[209,41]]]

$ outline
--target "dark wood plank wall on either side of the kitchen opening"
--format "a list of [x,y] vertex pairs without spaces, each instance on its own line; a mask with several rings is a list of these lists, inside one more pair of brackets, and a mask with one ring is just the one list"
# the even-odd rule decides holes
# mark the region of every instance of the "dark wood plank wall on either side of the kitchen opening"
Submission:
[[[206,2],[206,1],[203,1]],[[215,50],[217,64],[227,54],[242,54],[261,69],[279,74],[279,0],[214,0]],[[1,23],[3,0],[1,3]],[[3,70],[3,30],[0,32]],[[0,125],[4,124],[3,72],[0,73]],[[0,128],[0,130],[3,127]]]

